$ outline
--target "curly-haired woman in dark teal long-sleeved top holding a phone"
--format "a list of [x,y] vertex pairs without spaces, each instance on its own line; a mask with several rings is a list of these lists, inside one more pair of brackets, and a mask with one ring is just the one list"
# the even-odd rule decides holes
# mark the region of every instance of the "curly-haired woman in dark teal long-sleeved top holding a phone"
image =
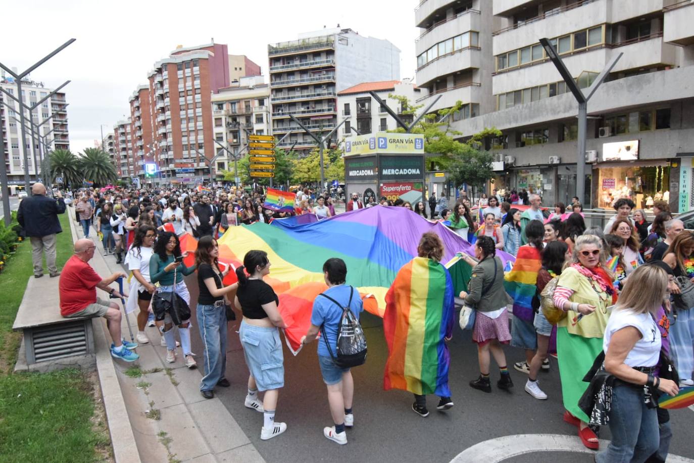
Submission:
[[[187,267],[183,260],[176,262],[176,257],[185,258],[187,255],[188,251],[180,252],[180,242],[175,233],[162,233],[154,245],[154,253],[149,260],[149,278],[152,283],[159,283],[158,292],[176,292],[185,303],[190,305],[190,293],[183,282],[183,277],[193,273],[197,266]],[[160,314],[156,314],[155,323],[164,334],[164,339],[167,342],[167,362],[176,362],[176,337],[174,337],[172,330],[174,324],[171,315],[167,312],[160,318]],[[197,364],[193,358],[194,354],[190,351],[189,319],[183,320],[178,325],[178,334],[185,355],[185,366],[195,368]]]

